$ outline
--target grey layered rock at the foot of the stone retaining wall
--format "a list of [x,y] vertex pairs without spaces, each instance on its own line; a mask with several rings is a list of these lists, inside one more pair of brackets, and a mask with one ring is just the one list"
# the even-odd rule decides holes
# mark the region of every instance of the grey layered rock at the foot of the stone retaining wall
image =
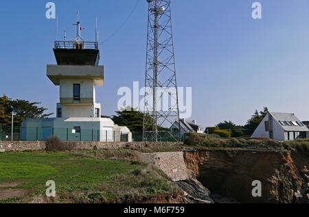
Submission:
[[210,191],[196,179],[187,179],[176,183],[187,195],[187,203],[214,203],[209,197]]

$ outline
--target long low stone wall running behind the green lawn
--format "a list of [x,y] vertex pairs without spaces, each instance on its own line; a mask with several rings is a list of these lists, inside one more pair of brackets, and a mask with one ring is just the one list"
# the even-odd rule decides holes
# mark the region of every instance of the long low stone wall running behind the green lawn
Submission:
[[[175,146],[179,142],[74,142],[76,150],[83,149],[121,149],[124,147],[132,147],[136,149],[144,148],[145,146]],[[45,150],[45,142],[10,142],[0,141],[0,152],[5,151],[39,151]]]

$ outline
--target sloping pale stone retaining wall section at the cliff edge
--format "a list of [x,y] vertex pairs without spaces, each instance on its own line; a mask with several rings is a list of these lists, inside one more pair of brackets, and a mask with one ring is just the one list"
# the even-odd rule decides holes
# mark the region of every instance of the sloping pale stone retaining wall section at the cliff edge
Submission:
[[160,168],[173,181],[189,179],[183,152],[143,153],[146,162]]

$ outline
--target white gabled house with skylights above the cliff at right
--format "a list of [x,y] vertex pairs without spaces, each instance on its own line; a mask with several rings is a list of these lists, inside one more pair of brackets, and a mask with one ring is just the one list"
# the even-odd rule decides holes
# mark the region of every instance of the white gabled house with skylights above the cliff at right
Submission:
[[308,138],[309,129],[293,113],[268,112],[251,136],[260,137],[277,141]]

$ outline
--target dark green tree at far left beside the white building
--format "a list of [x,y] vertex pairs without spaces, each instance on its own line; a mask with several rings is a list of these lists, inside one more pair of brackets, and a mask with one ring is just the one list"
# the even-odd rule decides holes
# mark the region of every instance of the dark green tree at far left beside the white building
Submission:
[[16,99],[9,99],[5,94],[0,97],[0,125],[10,125],[12,119],[12,111],[16,114],[14,116],[14,125],[20,126],[23,120],[28,118],[43,119],[50,114],[44,114],[47,108],[38,107],[41,103],[30,103],[30,101]]

